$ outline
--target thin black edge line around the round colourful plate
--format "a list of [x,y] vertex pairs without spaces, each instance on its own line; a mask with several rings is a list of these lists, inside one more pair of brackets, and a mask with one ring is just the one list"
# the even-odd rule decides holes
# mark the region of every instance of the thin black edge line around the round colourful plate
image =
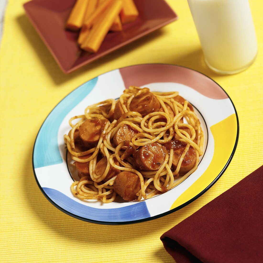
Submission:
[[[107,221],[99,221],[99,220],[93,220],[93,219],[88,219],[88,218],[83,218],[81,216],[77,216],[77,215],[74,215],[70,212],[68,212],[67,210],[65,210],[64,208],[60,207],[59,205],[57,205],[52,199],[49,198],[49,196],[45,193],[45,191],[43,190],[42,186],[39,184],[38,182],[38,179],[37,179],[37,176],[36,176],[36,172],[35,172],[35,168],[34,168],[34,151],[35,151],[35,145],[36,145],[36,140],[37,140],[37,136],[39,134],[39,131],[41,130],[41,127],[43,126],[45,120],[48,118],[48,116],[52,113],[52,111],[57,107],[57,105],[62,102],[62,100],[64,100],[70,93],[72,93],[74,90],[78,89],[80,86],[82,86],[83,84],[87,83],[88,81],[94,79],[94,78],[97,78],[99,77],[100,75],[103,75],[105,73],[109,73],[109,72],[112,72],[114,70],[117,70],[117,69],[122,69],[122,68],[129,68],[129,67],[134,67],[134,66],[139,66],[139,65],[154,65],[154,64],[159,64],[159,65],[170,65],[170,66],[176,66],[176,67],[181,67],[181,68],[186,68],[186,69],[190,69],[190,70],[193,70],[195,72],[198,72],[202,75],[204,75],[205,77],[211,79],[213,82],[215,82],[224,92],[225,94],[227,95],[227,97],[230,99],[230,102],[232,103],[232,106],[235,110],[235,115],[236,115],[236,122],[237,122],[237,134],[236,134],[236,141],[235,141],[235,145],[234,145],[234,149],[232,150],[232,153],[230,154],[230,157],[228,159],[228,161],[226,162],[224,168],[221,170],[221,172],[218,174],[218,176],[216,176],[216,178],[204,189],[202,190],[199,194],[197,194],[196,196],[194,196],[193,198],[191,198],[190,200],[188,200],[187,202],[185,202],[184,204],[182,205],[179,205],[177,206],[176,208],[174,209],[171,209],[167,212],[164,212],[164,213],[161,213],[159,215],[156,215],[156,216],[150,216],[148,218],[144,218],[144,219],[138,219],[138,220],[133,220],[133,221],[123,221],[123,222],[107,222]],[[33,166],[33,173],[34,173],[34,176],[35,176],[35,180],[37,182],[37,185],[39,187],[39,189],[41,190],[42,194],[45,196],[45,198],[47,198],[47,200],[52,204],[54,205],[57,209],[59,209],[60,211],[62,211],[63,213],[69,215],[69,216],[72,216],[73,218],[76,218],[76,219],[79,219],[79,220],[82,220],[82,221],[85,221],[85,222],[89,222],[89,223],[95,223],[95,224],[101,224],[101,225],[128,225],[128,224],[136,224],[136,223],[141,223],[141,222],[146,222],[146,221],[150,221],[150,220],[154,220],[154,219],[157,219],[157,218],[161,218],[165,215],[169,215],[171,213],[174,213],[175,211],[178,211],[180,210],[181,208],[185,207],[186,205],[189,205],[190,203],[192,203],[193,201],[195,201],[196,199],[198,199],[201,195],[203,195],[206,191],[208,191],[217,181],[218,179],[222,176],[222,174],[225,172],[225,170],[227,169],[227,167],[229,166],[231,160],[233,159],[233,156],[235,154],[235,151],[236,151],[236,148],[237,148],[237,143],[238,143],[238,139],[239,139],[239,119],[238,119],[238,115],[237,115],[237,111],[236,111],[236,107],[232,101],[232,99],[230,98],[230,96],[227,94],[227,92],[215,81],[213,80],[212,78],[208,77],[207,75],[199,72],[198,70],[195,70],[195,69],[191,69],[191,68],[188,68],[188,67],[185,67],[185,66],[181,66],[181,65],[176,65],[176,64],[167,64],[167,63],[143,63],[143,64],[134,64],[134,65],[129,65],[129,66],[126,66],[126,67],[121,67],[121,68],[115,68],[115,69],[112,69],[112,70],[109,70],[109,71],[106,71],[104,73],[101,73],[99,75],[97,75],[96,77],[94,77],[90,80],[87,80],[86,82],[82,83],[81,85],[79,85],[77,88],[73,89],[70,93],[68,93],[62,100],[60,100],[57,105],[55,105],[55,107],[50,111],[50,113],[47,115],[47,117],[45,118],[45,120],[43,121],[41,127],[39,128],[39,131],[37,133],[37,136],[36,136],[36,139],[35,139],[35,142],[34,142],[34,147],[33,147],[33,153],[32,153],[32,166]]]

